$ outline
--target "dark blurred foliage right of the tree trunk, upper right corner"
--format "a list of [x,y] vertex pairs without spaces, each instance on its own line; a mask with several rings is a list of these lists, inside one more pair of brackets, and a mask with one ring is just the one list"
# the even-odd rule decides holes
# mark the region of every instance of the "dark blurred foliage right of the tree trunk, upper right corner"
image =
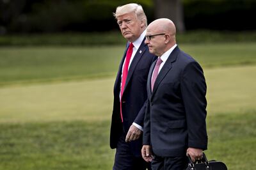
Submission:
[[185,0],[184,19],[187,29],[253,30],[256,10],[253,0]]

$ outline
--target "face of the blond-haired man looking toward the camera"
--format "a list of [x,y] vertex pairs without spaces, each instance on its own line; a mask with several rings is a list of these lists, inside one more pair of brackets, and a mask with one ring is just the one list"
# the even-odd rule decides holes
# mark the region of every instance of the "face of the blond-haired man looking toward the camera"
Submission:
[[134,13],[126,13],[116,17],[121,33],[129,42],[134,42],[143,32],[143,22]]

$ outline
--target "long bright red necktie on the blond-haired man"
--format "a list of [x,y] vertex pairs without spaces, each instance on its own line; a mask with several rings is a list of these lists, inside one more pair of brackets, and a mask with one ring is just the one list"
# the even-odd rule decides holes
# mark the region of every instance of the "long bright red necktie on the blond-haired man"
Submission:
[[125,82],[126,82],[126,78],[128,75],[128,67],[129,67],[129,63],[131,60],[131,56],[132,56],[132,48],[133,48],[133,44],[130,43],[129,48],[126,52],[126,58],[125,58],[125,63],[124,63],[124,68],[123,68],[123,73],[122,73],[122,86],[121,86],[121,100],[120,100],[120,114],[121,114],[121,119],[123,122],[123,115],[122,115],[122,95],[124,93],[124,86],[125,86]]

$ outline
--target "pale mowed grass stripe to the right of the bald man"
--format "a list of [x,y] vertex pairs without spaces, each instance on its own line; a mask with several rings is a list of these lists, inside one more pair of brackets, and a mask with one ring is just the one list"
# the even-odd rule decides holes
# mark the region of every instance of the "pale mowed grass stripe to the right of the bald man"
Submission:
[[205,69],[209,115],[255,112],[256,66]]

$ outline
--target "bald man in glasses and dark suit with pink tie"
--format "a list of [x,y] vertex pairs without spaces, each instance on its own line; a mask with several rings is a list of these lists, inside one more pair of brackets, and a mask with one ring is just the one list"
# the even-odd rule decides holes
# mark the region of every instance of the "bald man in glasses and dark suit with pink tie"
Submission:
[[181,170],[207,149],[206,84],[201,66],[177,47],[172,20],[147,27],[145,43],[159,56],[147,81],[142,157],[152,169]]

